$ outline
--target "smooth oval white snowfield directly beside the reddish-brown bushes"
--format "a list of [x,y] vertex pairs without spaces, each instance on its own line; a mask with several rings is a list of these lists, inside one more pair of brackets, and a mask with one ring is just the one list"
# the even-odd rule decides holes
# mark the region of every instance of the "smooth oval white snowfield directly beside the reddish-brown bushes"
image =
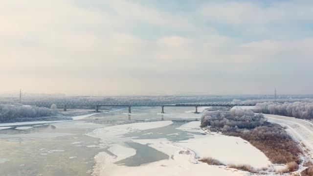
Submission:
[[224,164],[247,164],[254,168],[268,167],[271,164],[265,154],[240,137],[220,134],[194,137],[176,144],[191,149],[201,158],[213,157]]

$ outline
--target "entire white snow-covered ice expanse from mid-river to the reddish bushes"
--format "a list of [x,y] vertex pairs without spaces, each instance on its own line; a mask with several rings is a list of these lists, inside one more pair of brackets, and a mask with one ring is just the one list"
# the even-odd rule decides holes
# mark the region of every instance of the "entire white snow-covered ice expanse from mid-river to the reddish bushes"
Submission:
[[[172,121],[133,123],[96,129],[89,136],[98,137],[101,143],[98,147],[106,148],[107,152],[97,154],[93,176],[190,176],[196,172],[212,175],[238,176],[247,172],[229,169],[222,166],[209,166],[199,162],[200,157],[214,157],[225,164],[247,164],[255,168],[268,167],[268,158],[247,141],[240,137],[220,134],[206,134],[201,130],[200,122],[189,122],[181,125],[179,130],[192,132],[194,138],[173,142],[167,138],[137,139],[125,137],[129,132],[142,132],[171,125]],[[173,127],[174,128],[174,127]],[[161,132],[161,131],[160,131]],[[196,132],[197,134],[194,134]],[[142,134],[144,135],[144,134]],[[124,142],[135,142],[147,145],[159,152],[167,154],[168,159],[142,164],[137,167],[118,165],[115,162],[134,156],[137,151]],[[236,172],[234,172],[236,171]]]

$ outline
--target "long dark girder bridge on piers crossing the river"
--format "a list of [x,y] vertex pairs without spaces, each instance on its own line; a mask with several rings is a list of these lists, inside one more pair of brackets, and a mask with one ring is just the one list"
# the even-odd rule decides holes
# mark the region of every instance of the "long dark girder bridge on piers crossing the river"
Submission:
[[208,103],[179,103],[179,104],[165,104],[160,102],[83,102],[83,101],[57,101],[57,102],[24,102],[24,105],[50,107],[55,104],[56,106],[62,106],[64,111],[67,111],[68,107],[82,107],[82,106],[94,106],[95,111],[99,112],[100,107],[128,107],[128,113],[131,113],[131,107],[161,107],[161,113],[164,113],[164,107],[195,107],[195,113],[198,113],[198,107],[235,107],[235,106],[255,106],[253,104],[231,104],[230,102],[208,102]]

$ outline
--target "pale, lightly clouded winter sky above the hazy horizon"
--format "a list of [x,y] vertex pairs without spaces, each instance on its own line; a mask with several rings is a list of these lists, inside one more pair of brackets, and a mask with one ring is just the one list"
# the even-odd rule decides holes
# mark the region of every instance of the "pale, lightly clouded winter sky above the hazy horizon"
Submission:
[[0,93],[313,94],[312,0],[0,0]]

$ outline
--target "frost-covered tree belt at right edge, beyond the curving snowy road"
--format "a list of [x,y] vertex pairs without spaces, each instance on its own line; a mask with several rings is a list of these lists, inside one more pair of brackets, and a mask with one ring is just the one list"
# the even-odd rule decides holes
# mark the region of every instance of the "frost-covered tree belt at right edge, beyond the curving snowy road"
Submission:
[[275,103],[265,102],[258,103],[254,109],[255,112],[267,114],[284,115],[289,117],[312,119],[313,103],[309,102],[293,102],[293,103]]

